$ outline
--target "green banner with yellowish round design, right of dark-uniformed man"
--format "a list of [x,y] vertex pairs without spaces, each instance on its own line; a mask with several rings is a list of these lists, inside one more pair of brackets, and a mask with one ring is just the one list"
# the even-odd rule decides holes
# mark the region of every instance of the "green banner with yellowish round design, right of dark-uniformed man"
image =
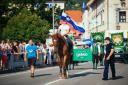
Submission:
[[115,46],[123,46],[123,32],[121,33],[112,33],[111,34],[112,42],[115,44]]

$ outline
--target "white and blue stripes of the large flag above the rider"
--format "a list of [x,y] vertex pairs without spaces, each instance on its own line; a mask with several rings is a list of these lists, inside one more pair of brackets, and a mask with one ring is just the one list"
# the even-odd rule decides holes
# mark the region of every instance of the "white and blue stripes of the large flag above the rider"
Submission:
[[81,33],[84,33],[85,32],[85,29],[78,25],[75,21],[73,21],[66,13],[62,13],[61,17],[60,17],[61,20],[66,20],[68,23],[70,23],[75,30],[78,30],[80,31]]

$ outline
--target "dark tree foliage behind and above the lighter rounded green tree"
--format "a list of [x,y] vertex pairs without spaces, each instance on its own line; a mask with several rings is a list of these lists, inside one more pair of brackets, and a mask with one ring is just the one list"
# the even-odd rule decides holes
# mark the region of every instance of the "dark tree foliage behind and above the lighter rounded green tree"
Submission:
[[[46,8],[46,0],[0,0],[0,39],[8,20],[16,17],[23,9],[36,13],[42,20],[47,20],[52,25],[52,9],[46,11]],[[57,7],[55,10],[56,21],[62,10]]]

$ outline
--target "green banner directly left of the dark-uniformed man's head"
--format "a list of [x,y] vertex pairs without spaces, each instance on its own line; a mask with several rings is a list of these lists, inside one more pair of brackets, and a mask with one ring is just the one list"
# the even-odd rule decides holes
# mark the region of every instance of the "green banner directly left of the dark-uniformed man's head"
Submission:
[[104,43],[104,32],[91,33],[91,38]]

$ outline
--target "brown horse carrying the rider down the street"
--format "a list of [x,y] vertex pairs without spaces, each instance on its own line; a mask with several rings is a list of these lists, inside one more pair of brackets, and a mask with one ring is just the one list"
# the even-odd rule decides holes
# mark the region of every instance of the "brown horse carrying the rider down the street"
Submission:
[[70,46],[67,44],[66,39],[59,33],[52,35],[52,41],[58,55],[59,76],[66,79],[68,78],[68,64],[71,59]]

